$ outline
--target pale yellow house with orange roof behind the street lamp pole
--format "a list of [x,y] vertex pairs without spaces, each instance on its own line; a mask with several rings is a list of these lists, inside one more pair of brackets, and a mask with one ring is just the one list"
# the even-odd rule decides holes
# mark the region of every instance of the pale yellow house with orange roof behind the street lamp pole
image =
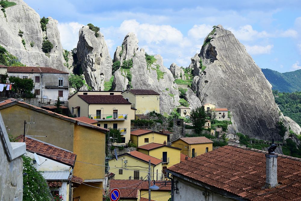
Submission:
[[143,179],[147,176],[148,161],[151,160],[151,179],[159,180],[162,173],[162,160],[138,151],[118,155],[118,160],[110,159],[110,172],[115,179]]

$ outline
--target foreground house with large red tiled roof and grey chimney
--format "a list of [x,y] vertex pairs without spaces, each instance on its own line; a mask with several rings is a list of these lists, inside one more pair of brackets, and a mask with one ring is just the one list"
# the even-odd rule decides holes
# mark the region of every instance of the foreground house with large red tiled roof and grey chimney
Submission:
[[301,159],[237,145],[167,169],[172,200],[299,200]]

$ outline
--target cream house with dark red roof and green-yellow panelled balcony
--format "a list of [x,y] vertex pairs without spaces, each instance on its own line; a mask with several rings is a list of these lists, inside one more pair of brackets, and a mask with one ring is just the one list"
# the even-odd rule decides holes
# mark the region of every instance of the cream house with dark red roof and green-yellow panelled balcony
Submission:
[[78,91],[70,96],[68,106],[71,113],[77,117],[88,117],[98,121],[97,126],[100,127],[119,129],[121,141],[117,143],[125,145],[130,140],[131,120],[135,119],[135,108],[120,94],[121,92],[115,91]]

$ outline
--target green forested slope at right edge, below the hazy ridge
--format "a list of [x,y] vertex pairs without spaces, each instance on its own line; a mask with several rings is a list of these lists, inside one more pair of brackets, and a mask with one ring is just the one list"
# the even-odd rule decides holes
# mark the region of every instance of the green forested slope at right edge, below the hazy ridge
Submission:
[[290,117],[292,120],[296,121],[297,124],[301,125],[301,92],[281,93],[277,90],[273,90],[273,94],[274,96],[278,96],[275,97],[275,102],[283,115]]

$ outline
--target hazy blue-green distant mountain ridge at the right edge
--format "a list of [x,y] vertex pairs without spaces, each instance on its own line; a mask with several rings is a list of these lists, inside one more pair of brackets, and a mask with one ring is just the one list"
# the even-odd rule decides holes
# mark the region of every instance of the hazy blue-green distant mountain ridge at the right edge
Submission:
[[296,92],[301,91],[301,69],[279,73],[271,69],[261,69],[265,78],[272,84],[273,90],[280,92]]

